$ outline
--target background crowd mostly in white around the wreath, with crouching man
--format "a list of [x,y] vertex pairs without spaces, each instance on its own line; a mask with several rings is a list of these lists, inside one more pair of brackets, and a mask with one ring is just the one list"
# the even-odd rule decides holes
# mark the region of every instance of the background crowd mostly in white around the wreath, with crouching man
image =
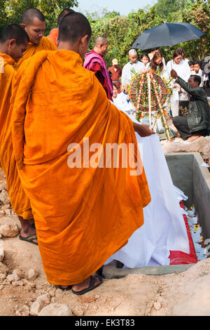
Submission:
[[[183,140],[189,139],[190,142],[200,136],[207,136],[209,128],[207,91],[209,90],[210,79],[209,70],[204,72],[204,65],[207,63],[200,60],[188,60],[183,48],[177,48],[176,51],[174,51],[172,60],[169,60],[167,64],[159,48],[153,48],[151,53],[142,53],[139,60],[137,51],[131,49],[128,58],[129,62],[123,68],[118,66],[117,91],[116,76],[113,76],[115,65],[109,67],[114,89],[113,102],[116,105],[121,108],[123,107],[127,112],[136,111],[132,103],[130,103],[130,95],[127,93],[127,86],[130,86],[135,74],[145,72],[146,70],[153,70],[160,74],[160,77],[163,77],[172,89],[172,95],[169,98],[169,103],[167,103],[167,112],[172,115],[174,126],[178,130],[181,138]],[[118,62],[117,59],[113,61]],[[174,75],[174,71],[177,75]],[[120,72],[122,72],[121,76]],[[190,86],[186,84],[184,84],[183,87],[183,81],[181,80],[179,80],[179,84],[178,81],[176,81],[178,77],[190,84],[191,89],[189,90]],[[197,89],[193,90],[192,87]],[[201,98],[202,100],[200,100]],[[192,111],[193,103],[190,103],[192,100],[199,101],[198,103],[196,102],[198,105],[197,114],[195,114],[195,107],[193,107]],[[197,122],[198,117],[202,117],[200,123]]]

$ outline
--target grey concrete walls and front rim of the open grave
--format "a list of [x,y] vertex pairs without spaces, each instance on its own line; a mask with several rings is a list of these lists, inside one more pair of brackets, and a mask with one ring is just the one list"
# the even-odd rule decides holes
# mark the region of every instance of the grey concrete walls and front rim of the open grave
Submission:
[[[198,152],[166,154],[167,164],[176,187],[189,197],[187,206],[195,205],[204,239],[210,238],[210,173],[201,166],[203,159]],[[104,266],[106,279],[121,278],[129,274],[166,275],[185,272],[190,265],[164,265],[144,268],[116,268],[116,262]]]

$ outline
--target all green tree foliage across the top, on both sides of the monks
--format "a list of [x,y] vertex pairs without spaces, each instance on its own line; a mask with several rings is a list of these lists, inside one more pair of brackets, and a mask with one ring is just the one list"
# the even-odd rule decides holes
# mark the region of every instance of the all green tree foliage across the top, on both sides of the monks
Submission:
[[[57,25],[57,15],[63,8],[78,6],[77,0],[0,0],[0,32],[8,24],[19,23],[25,9],[34,7],[40,9],[47,20],[45,35]],[[92,27],[92,41],[90,49],[94,47],[94,40],[104,36],[109,41],[109,52],[106,64],[111,66],[113,58],[118,58],[123,67],[127,62],[127,54],[134,41],[146,29],[150,29],[163,22],[189,22],[205,32],[200,40],[188,41],[173,47],[162,47],[160,50],[166,61],[172,58],[172,53],[178,47],[186,51],[186,58],[198,59],[209,55],[210,48],[210,8],[209,0],[158,0],[154,6],[140,8],[127,16],[121,16],[116,11],[104,8],[100,12],[86,13]],[[146,51],[149,53],[149,50]],[[139,55],[142,53],[138,50]],[[144,51],[145,53],[145,51]]]

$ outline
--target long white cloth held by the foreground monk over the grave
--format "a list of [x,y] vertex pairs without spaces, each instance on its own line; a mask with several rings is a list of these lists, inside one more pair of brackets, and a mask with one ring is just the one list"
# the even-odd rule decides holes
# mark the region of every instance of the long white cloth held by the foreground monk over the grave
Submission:
[[144,208],[144,225],[105,264],[119,260],[126,268],[169,265],[170,251],[190,252],[184,212],[179,206],[178,192],[174,189],[158,136],[141,138],[136,133],[136,137],[151,203]]

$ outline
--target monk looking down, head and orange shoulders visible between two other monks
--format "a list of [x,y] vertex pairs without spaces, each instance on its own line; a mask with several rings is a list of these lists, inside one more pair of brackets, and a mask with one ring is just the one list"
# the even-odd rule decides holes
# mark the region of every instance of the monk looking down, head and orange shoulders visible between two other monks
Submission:
[[36,8],[28,8],[21,17],[21,26],[29,36],[29,44],[26,51],[18,62],[20,65],[24,60],[30,58],[38,51],[56,51],[57,46],[47,37],[43,37],[46,21],[43,13]]

